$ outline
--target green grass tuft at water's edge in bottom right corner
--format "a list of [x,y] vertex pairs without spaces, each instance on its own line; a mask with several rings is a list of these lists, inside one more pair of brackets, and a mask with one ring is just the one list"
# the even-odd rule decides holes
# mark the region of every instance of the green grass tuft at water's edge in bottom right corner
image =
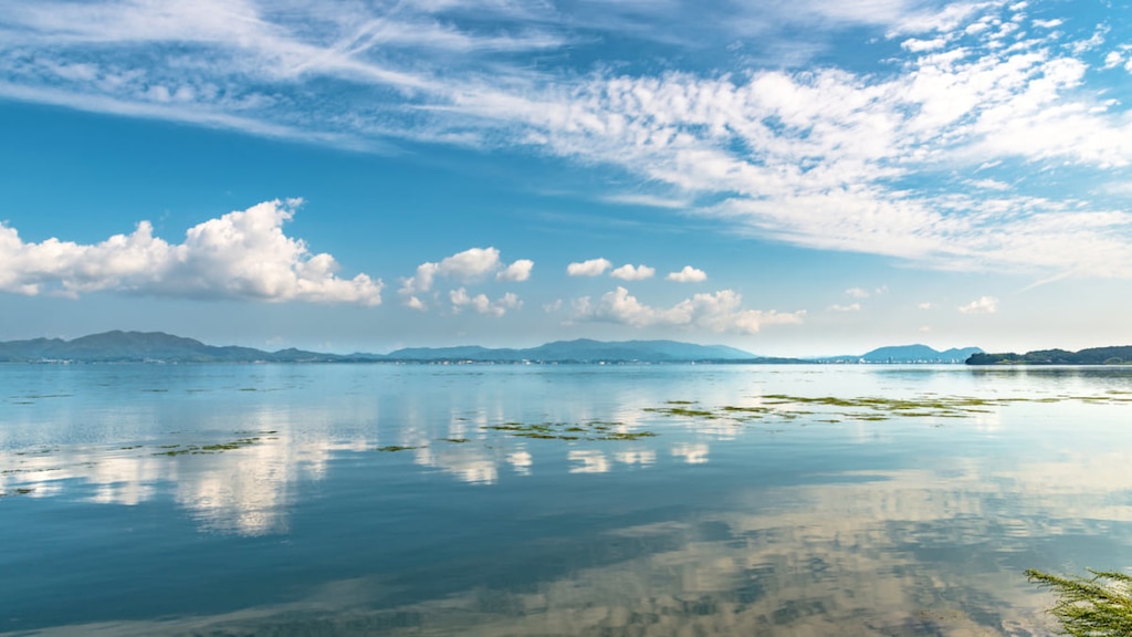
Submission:
[[1049,614],[1065,635],[1116,637],[1132,635],[1132,576],[1089,569],[1092,577],[1058,577],[1029,569],[1030,581],[1057,594]]

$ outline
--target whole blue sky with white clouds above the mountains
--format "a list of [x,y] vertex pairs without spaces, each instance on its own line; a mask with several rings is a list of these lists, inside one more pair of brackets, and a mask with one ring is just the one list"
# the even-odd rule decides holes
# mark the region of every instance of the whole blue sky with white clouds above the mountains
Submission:
[[1117,0],[9,0],[0,340],[1132,343]]

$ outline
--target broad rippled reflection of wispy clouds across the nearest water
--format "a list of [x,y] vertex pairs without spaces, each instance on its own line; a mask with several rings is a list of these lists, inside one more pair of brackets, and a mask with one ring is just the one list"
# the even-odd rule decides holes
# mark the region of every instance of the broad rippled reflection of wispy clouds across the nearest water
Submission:
[[[583,473],[609,466],[600,453],[571,456]],[[1132,453],[1099,460],[1116,467]],[[1021,569],[1063,562],[1037,554],[1035,540],[1073,542],[1101,530],[1099,520],[1132,520],[1127,503],[1109,501],[1132,487],[1132,477],[1088,476],[1067,470],[1072,466],[997,472],[969,462],[947,481],[931,469],[901,469],[831,476],[820,486],[739,489],[720,510],[559,537],[582,557],[555,577],[529,581],[514,572],[511,586],[440,593],[411,572],[391,574],[324,584],[285,604],[77,628],[115,635],[1050,635],[1040,612],[1047,600]],[[1055,484],[1054,493],[1046,491]],[[1021,502],[1003,506],[1020,492]],[[1104,549],[1120,546],[1127,555],[1127,534],[1120,527],[1114,535],[1122,541],[1103,541]],[[512,541],[522,553],[548,538]],[[506,559],[468,549],[457,566],[419,568],[457,578],[479,571],[487,580]],[[405,586],[415,587],[413,601],[393,602]]]

